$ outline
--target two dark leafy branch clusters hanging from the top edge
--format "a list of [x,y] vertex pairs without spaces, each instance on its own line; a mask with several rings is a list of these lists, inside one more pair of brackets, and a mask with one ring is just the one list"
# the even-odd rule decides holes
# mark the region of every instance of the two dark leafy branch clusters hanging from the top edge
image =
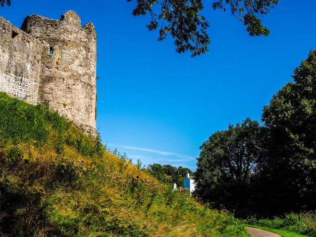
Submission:
[[[150,15],[151,20],[147,25],[149,31],[156,30],[159,26],[159,41],[170,34],[174,39],[178,53],[190,50],[191,56],[196,56],[208,51],[210,43],[206,29],[209,23],[200,15],[202,0],[127,0],[136,1],[137,6],[133,11],[134,16]],[[213,9],[226,11],[230,8],[232,16],[243,21],[251,36],[269,35],[269,29],[263,26],[262,18],[279,3],[278,0],[211,0]],[[228,6],[228,7],[227,7]]]

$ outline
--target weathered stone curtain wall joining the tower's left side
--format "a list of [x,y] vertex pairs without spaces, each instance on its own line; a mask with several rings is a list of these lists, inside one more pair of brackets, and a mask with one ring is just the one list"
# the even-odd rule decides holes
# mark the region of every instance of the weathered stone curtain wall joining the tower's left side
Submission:
[[0,91],[36,104],[42,54],[48,49],[47,43],[0,17]]

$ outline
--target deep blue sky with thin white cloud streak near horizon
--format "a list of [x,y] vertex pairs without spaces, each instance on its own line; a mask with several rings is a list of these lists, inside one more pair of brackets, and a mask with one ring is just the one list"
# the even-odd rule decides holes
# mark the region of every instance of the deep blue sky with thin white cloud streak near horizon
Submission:
[[143,164],[195,170],[199,146],[209,135],[251,117],[288,81],[310,49],[316,48],[314,0],[280,0],[264,19],[268,37],[248,36],[228,12],[213,11],[209,52],[177,54],[172,39],[157,42],[147,16],[133,17],[134,3],[21,1],[0,9],[20,27],[27,15],[60,19],[76,11],[82,25],[97,30],[97,129],[103,143]]

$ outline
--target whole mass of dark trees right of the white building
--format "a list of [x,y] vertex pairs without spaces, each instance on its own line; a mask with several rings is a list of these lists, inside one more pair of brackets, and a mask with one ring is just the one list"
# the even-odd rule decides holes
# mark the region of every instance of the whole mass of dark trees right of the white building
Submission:
[[316,50],[265,106],[200,147],[196,195],[239,217],[316,209]]

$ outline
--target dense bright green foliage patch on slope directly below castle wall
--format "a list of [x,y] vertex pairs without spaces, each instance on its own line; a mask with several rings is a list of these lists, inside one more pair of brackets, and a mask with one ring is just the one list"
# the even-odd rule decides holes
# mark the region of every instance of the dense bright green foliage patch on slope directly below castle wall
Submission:
[[30,105],[0,92],[0,142],[33,140],[40,146],[47,141],[49,129],[62,131],[69,123],[42,105]]

